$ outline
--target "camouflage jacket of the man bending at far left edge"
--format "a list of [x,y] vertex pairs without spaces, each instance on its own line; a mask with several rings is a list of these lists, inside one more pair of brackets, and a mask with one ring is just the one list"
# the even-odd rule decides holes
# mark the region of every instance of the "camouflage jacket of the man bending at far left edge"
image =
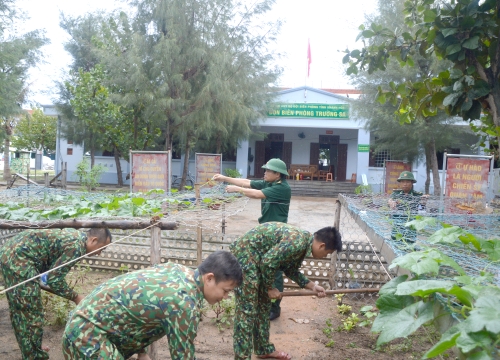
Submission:
[[[74,229],[23,231],[0,248],[0,264],[28,279],[87,253],[87,234]],[[65,277],[74,263],[48,274],[47,285],[59,296],[73,300],[77,293]]]

